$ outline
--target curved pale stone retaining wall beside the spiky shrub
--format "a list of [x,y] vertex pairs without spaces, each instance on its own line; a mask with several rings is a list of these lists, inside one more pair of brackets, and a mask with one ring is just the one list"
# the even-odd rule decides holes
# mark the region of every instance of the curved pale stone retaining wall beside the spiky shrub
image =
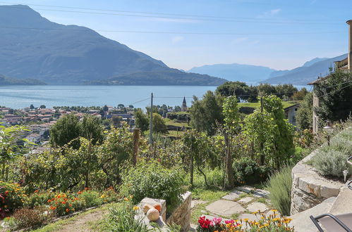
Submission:
[[327,198],[336,197],[344,186],[344,183],[325,179],[307,165],[318,152],[313,151],[292,169],[291,215],[308,210]]

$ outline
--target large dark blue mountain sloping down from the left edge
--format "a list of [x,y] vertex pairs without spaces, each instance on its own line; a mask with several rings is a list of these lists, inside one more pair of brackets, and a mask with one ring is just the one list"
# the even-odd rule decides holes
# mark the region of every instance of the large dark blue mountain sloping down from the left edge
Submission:
[[[118,76],[128,78],[136,73],[151,78],[154,72],[164,72],[169,84],[219,85],[226,81],[171,69],[161,60],[102,37],[87,27],[50,22],[28,6],[0,6],[0,34],[0,72],[20,79],[83,84]],[[178,73],[179,79],[167,76],[169,72]],[[148,84],[159,82],[154,79]]]

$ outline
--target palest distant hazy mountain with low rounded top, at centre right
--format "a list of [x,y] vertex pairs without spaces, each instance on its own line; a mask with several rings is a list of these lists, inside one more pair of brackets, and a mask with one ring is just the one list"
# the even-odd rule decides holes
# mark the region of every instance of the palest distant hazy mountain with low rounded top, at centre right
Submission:
[[201,67],[193,67],[188,70],[188,72],[207,74],[214,77],[228,79],[229,81],[241,82],[260,82],[269,78],[269,75],[274,71],[275,70],[269,67],[241,65],[237,63],[204,65]]

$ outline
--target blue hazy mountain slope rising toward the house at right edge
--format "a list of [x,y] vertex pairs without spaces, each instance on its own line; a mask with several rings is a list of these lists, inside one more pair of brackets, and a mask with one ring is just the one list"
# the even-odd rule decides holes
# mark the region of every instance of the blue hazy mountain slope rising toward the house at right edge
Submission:
[[306,62],[302,67],[296,67],[293,70],[284,70],[272,72],[269,79],[264,83],[269,84],[308,84],[317,77],[325,76],[329,73],[329,67],[334,67],[334,61],[344,60],[347,54],[336,56],[334,58],[315,58]]

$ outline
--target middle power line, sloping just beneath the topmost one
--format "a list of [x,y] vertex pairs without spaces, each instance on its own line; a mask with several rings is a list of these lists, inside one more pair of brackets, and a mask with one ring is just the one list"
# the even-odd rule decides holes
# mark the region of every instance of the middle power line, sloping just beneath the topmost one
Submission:
[[[26,9],[19,6],[8,6],[11,8],[20,8]],[[214,21],[214,22],[249,22],[249,23],[269,23],[269,24],[299,24],[299,25],[326,25],[326,24],[340,24],[339,22],[289,22],[289,21],[265,21],[265,20],[236,20],[236,19],[212,19],[212,18],[181,18],[181,17],[166,17],[158,15],[137,15],[137,14],[128,14],[128,13],[103,13],[103,12],[92,12],[92,11],[68,11],[68,10],[58,10],[58,9],[48,9],[48,8],[32,8],[36,11],[57,11],[57,12],[66,12],[66,13],[85,13],[85,14],[95,14],[95,15],[119,15],[119,16],[128,16],[128,17],[140,17],[140,18],[163,18],[163,19],[174,19],[174,20],[205,20],[205,21]]]

